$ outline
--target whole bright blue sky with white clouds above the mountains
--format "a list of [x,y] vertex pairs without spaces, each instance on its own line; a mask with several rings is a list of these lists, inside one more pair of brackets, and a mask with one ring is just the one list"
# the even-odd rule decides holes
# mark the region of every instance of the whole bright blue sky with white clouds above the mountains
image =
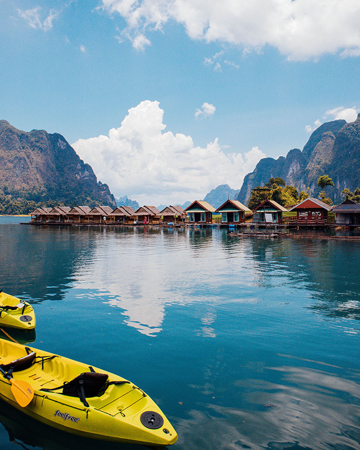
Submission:
[[0,10],[0,118],[62,134],[116,196],[142,204],[239,189],[261,157],[302,149],[320,123],[360,107],[357,1]]

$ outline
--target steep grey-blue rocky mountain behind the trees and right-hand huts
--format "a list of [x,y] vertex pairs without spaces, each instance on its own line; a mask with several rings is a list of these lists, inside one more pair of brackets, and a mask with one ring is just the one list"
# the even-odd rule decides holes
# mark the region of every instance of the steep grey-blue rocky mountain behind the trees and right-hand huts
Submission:
[[293,149],[286,157],[263,158],[254,172],[248,173],[237,200],[247,204],[251,189],[263,186],[271,177],[281,177],[287,185],[298,191],[310,188],[309,194],[317,197],[321,190],[317,178],[329,175],[334,187],[326,188],[327,195],[339,203],[341,191],[353,191],[360,186],[360,114],[354,122],[333,120],[317,128],[303,150]]

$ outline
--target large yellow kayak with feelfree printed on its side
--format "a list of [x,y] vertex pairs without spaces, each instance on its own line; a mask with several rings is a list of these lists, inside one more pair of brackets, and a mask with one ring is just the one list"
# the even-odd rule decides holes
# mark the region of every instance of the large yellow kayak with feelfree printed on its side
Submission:
[[4,339],[0,367],[34,391],[22,408],[9,380],[0,376],[0,398],[47,425],[86,438],[155,447],[177,440],[154,401],[118,375]]

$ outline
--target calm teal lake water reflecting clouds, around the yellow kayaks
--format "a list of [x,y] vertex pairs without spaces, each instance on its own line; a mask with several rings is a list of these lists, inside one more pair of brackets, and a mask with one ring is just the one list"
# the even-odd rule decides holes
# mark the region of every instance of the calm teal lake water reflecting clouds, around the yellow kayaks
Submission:
[[[136,383],[177,430],[171,450],[360,448],[360,242],[20,221],[0,219],[0,287],[37,327],[14,337]],[[0,443],[129,448],[3,403]]]

